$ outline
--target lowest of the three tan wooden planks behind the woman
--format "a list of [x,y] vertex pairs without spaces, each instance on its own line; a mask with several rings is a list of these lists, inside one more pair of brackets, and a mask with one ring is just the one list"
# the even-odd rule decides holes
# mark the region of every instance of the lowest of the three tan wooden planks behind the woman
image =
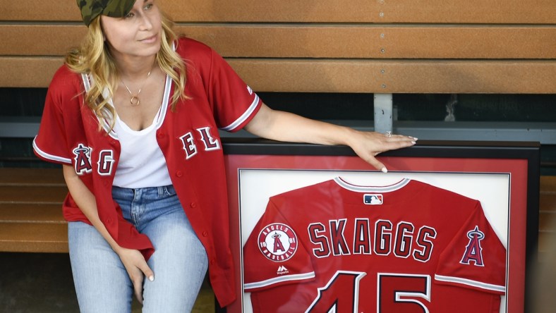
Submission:
[[[258,92],[519,93],[556,90],[549,61],[228,59]],[[0,86],[47,87],[59,57],[0,57]],[[356,78],[356,79],[353,79]]]

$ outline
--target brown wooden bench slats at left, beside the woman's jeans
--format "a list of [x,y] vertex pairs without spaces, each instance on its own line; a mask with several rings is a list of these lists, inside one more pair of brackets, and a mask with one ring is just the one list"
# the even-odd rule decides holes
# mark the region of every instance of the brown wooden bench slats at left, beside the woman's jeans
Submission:
[[61,169],[0,168],[0,251],[68,252]]

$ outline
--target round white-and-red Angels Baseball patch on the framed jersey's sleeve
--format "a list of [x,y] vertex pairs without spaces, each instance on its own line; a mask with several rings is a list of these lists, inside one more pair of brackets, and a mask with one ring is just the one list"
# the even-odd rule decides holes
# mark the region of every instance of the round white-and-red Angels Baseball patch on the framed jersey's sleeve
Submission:
[[271,261],[284,262],[296,253],[297,235],[286,224],[268,224],[258,238],[260,252]]

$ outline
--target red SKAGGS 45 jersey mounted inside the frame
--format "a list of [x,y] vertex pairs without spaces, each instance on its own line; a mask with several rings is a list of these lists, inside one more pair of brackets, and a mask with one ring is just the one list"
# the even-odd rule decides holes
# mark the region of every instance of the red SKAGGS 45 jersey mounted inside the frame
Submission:
[[271,197],[243,247],[254,312],[499,312],[506,250],[480,202],[341,178]]

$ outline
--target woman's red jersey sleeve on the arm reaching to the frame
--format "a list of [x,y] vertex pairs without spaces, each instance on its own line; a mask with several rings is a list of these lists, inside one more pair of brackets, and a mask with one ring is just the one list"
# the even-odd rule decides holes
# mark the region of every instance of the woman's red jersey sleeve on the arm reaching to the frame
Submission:
[[211,49],[208,97],[214,118],[222,130],[241,130],[262,105],[258,95],[216,51]]

